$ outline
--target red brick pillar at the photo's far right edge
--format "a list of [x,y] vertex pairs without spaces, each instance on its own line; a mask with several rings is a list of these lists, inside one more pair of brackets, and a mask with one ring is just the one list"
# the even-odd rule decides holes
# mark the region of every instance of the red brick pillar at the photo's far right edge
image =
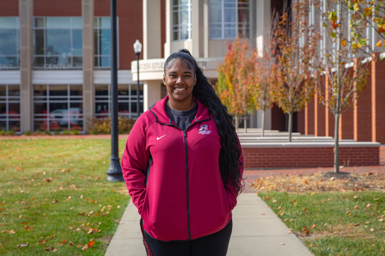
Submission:
[[385,63],[372,62],[372,140],[385,144]]

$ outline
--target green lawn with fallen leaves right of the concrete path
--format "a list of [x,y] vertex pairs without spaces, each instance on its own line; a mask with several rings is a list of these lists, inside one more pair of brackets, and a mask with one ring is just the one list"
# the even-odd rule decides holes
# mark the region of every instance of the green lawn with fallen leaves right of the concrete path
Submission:
[[259,192],[316,256],[385,255],[383,192]]

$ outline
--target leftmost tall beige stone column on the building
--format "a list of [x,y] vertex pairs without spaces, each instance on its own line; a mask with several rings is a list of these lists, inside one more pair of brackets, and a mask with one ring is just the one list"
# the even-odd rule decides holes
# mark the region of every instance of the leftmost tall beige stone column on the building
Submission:
[[33,0],[19,0],[20,17],[20,130],[33,129]]

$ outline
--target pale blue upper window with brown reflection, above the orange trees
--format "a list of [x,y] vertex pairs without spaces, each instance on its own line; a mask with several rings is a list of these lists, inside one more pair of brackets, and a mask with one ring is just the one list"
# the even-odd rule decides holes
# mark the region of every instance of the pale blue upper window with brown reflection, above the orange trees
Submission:
[[210,38],[249,37],[249,0],[209,0]]

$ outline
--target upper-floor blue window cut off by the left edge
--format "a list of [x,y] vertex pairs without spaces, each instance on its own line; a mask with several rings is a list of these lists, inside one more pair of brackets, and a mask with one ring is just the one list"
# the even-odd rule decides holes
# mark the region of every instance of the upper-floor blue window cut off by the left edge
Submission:
[[0,17],[0,69],[18,69],[20,32],[18,17]]

